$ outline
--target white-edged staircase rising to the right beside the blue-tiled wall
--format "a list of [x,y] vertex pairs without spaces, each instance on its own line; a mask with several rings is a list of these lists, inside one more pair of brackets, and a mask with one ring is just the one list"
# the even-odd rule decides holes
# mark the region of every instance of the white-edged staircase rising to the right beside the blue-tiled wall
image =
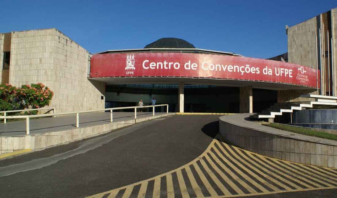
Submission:
[[284,102],[275,103],[261,113],[249,116],[251,119],[275,118],[283,113],[292,113],[294,110],[302,110],[307,108],[315,109],[330,109],[336,108],[337,97],[335,96],[321,96],[321,95],[301,95],[302,98],[313,98],[315,101],[308,102]]

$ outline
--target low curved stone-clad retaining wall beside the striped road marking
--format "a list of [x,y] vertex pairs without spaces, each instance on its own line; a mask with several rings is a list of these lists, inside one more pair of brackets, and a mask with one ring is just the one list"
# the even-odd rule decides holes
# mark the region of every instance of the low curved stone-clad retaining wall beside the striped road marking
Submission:
[[251,121],[252,114],[219,118],[220,134],[243,149],[290,162],[337,168],[337,141],[274,129]]

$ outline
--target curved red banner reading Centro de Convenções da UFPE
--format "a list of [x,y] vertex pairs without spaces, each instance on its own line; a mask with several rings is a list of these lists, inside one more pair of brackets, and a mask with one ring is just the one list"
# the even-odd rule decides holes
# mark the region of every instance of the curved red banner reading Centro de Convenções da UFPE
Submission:
[[92,78],[137,76],[254,80],[317,88],[316,69],[275,60],[175,52],[94,54],[91,58]]

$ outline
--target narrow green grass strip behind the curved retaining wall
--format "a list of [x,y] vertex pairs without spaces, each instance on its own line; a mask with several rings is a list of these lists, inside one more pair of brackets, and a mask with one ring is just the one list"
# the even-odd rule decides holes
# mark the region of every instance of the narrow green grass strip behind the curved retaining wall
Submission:
[[337,141],[337,135],[336,134],[331,134],[331,133],[326,133],[326,132],[321,132],[321,131],[313,131],[309,129],[303,129],[295,126],[287,126],[283,124],[274,124],[274,123],[263,123],[262,125],[264,126],[269,126],[277,129],[281,129],[284,131],[290,131],[294,133],[299,133],[303,135],[309,135],[312,137],[317,137],[317,138],[324,138],[328,140],[335,140]]

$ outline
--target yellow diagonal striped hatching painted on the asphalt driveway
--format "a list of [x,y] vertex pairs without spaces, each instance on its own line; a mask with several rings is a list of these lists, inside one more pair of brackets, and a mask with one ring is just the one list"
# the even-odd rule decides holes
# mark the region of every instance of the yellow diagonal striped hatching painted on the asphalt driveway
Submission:
[[[217,138],[219,138],[219,140],[217,140]],[[174,197],[175,193],[182,195],[184,198],[189,197],[189,191],[194,191],[197,197],[204,197],[201,186],[198,185],[194,175],[200,178],[198,180],[206,187],[211,197],[219,197],[214,188],[218,188],[224,193],[224,196],[221,197],[267,195],[279,192],[295,192],[303,190],[337,189],[336,169],[318,168],[290,163],[258,155],[235,146],[229,146],[224,142],[221,135],[218,134],[203,154],[178,169],[90,197],[114,198],[119,192],[123,191],[123,197],[130,197],[136,185],[141,185],[139,192],[134,192],[135,194],[138,193],[138,197],[145,197],[147,192],[152,192],[153,197],[160,197],[160,183],[162,177],[166,177],[167,197]],[[258,169],[254,166],[258,167]],[[238,167],[241,170],[238,169]],[[195,171],[192,171],[191,168],[194,168]],[[205,172],[203,172],[201,168]],[[183,169],[185,169],[187,177],[183,176]],[[222,170],[225,172],[222,172]],[[177,175],[177,183],[173,183],[172,174]],[[209,179],[212,181],[209,181],[205,174],[208,175],[210,177]],[[258,179],[259,182],[255,182],[252,177]],[[237,194],[231,194],[230,191],[232,190],[229,188],[227,189],[219,179],[223,179],[226,182],[226,185],[236,191]],[[236,181],[233,181],[233,179]],[[148,182],[152,180],[154,180],[153,189],[148,189]],[[273,183],[269,183],[269,181],[272,181]],[[186,183],[190,183],[192,189],[187,189]],[[213,183],[213,185],[215,183],[216,186],[212,186],[211,183]],[[318,183],[326,185],[327,187]],[[174,188],[174,186],[177,188]],[[258,189],[262,192],[257,192],[254,189]],[[271,189],[274,192],[269,192],[268,189]]]

